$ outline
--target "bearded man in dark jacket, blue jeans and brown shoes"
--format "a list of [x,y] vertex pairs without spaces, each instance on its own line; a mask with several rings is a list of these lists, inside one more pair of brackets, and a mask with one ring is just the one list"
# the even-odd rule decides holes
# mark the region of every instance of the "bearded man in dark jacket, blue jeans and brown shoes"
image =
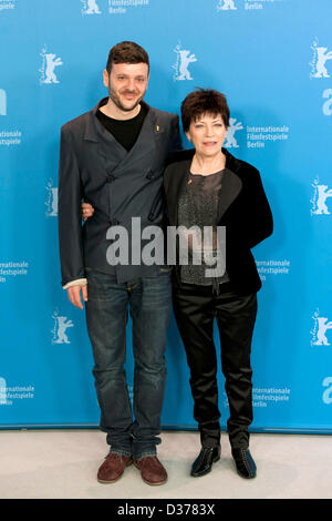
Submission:
[[[120,479],[133,461],[145,482],[167,480],[156,445],[166,377],[170,274],[157,265],[108,264],[106,237],[120,225],[132,244],[133,217],[141,218],[142,228],[163,224],[163,170],[169,153],[180,147],[178,116],[143,101],[148,79],[145,50],[134,42],[118,43],[111,49],[103,72],[108,98],[61,129],[62,285],[74,306],[83,309],[81,293],[85,302],[101,429],[111,446],[97,479],[107,483]],[[82,227],[83,198],[93,205],[94,215]],[[134,416],[124,371],[128,310]]]

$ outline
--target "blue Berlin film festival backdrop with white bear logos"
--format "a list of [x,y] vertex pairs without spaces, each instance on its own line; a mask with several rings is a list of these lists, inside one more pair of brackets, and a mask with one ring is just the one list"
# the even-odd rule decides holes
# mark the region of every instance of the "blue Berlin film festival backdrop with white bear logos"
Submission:
[[[98,423],[84,313],[60,285],[59,137],[107,94],[111,47],[134,40],[151,105],[179,113],[195,86],[227,95],[226,145],[272,206],[274,234],[253,251],[252,430],[332,432],[331,20],[331,0],[0,0],[0,427]],[[163,425],[194,428],[174,319],[167,366]]]

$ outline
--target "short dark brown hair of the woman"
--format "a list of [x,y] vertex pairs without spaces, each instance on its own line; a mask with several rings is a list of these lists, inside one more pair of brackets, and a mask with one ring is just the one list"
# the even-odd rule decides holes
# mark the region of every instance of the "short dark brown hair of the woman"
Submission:
[[184,99],[181,103],[184,132],[188,132],[190,123],[203,114],[221,115],[225,126],[229,126],[229,108],[221,92],[197,88]]

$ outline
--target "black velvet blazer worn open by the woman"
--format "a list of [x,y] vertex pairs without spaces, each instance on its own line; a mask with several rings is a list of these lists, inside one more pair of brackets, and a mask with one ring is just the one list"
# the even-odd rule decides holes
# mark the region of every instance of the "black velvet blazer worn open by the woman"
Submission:
[[[271,235],[271,210],[257,168],[237,160],[226,149],[226,171],[218,204],[218,226],[226,226],[226,272],[231,286],[240,295],[256,293],[261,287],[250,249]],[[195,150],[181,151],[169,160],[164,174],[164,187],[170,226],[178,226],[178,200]],[[180,279],[180,267],[176,267]]]

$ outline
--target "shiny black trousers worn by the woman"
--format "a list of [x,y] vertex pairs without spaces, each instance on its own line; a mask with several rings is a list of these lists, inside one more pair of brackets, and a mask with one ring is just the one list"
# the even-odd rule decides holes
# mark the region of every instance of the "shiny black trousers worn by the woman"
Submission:
[[230,417],[227,421],[232,448],[249,446],[252,421],[251,338],[257,314],[257,295],[240,296],[230,283],[219,286],[181,284],[174,288],[174,313],[190,368],[194,417],[203,447],[220,442],[217,357],[214,319],[220,335],[221,369],[226,379]]

